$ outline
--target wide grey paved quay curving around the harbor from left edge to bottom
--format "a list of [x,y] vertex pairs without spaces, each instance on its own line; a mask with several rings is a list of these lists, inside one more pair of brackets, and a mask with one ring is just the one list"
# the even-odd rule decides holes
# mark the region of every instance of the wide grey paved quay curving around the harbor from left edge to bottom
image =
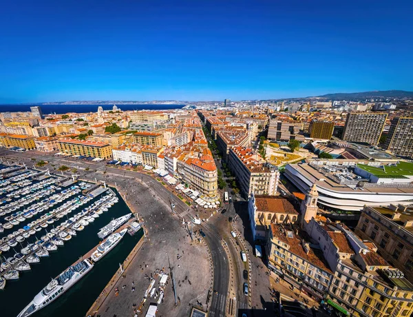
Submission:
[[[157,316],[189,316],[193,306],[207,310],[207,297],[213,290],[213,269],[207,246],[199,243],[199,236],[194,236],[192,240],[188,227],[182,224],[178,216],[172,214],[171,198],[173,197],[178,212],[187,212],[188,206],[179,198],[171,196],[158,181],[136,172],[107,168],[101,163],[69,161],[36,152],[31,152],[30,156],[27,152],[4,151],[1,154],[3,161],[8,160],[10,163],[13,161],[30,165],[32,158],[46,160],[50,170],[53,170],[52,165],[55,168],[59,165],[76,167],[79,179],[116,185],[119,194],[145,228],[147,237],[142,238],[127,256],[129,263],[124,263],[125,273],[116,273],[112,280],[108,280],[107,287],[101,289],[100,296],[94,304],[91,303],[85,316],[134,316],[134,309],[138,309],[149,287],[151,274],[155,276],[157,269],[158,272],[162,270],[170,274],[168,257],[173,267],[177,305],[169,278],[163,303],[158,305]],[[70,174],[65,173],[66,176]],[[132,282],[134,292],[131,290]],[[147,298],[138,316],[145,316],[149,304],[156,303],[157,300],[158,298]]]

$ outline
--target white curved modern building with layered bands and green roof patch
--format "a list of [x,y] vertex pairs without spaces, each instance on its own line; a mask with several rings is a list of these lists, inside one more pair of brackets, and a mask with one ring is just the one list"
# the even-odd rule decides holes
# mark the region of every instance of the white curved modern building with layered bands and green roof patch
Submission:
[[319,207],[327,210],[413,204],[413,163],[313,160],[287,165],[284,175],[304,193],[315,183]]

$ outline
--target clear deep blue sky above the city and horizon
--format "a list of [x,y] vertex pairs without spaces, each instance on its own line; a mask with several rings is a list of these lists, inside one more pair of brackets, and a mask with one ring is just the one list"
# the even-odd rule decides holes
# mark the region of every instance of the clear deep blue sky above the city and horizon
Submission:
[[3,1],[0,103],[413,90],[413,1]]

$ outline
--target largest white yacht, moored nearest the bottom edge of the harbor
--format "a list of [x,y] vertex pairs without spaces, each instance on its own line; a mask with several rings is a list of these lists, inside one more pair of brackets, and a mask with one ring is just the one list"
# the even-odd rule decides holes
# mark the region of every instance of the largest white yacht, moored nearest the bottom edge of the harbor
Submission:
[[76,265],[68,267],[63,273],[47,284],[17,317],[30,316],[34,314],[34,312],[49,305],[53,300],[56,300],[56,298],[66,292],[67,289],[70,289],[70,287],[76,284],[78,280],[83,278],[93,267],[94,265],[90,263],[88,259],[81,260],[81,262]]

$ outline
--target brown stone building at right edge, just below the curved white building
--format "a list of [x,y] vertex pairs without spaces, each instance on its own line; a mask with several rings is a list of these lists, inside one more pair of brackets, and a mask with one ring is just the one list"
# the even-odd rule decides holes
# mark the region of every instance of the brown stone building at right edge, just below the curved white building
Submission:
[[355,232],[413,283],[413,209],[403,205],[364,207]]

